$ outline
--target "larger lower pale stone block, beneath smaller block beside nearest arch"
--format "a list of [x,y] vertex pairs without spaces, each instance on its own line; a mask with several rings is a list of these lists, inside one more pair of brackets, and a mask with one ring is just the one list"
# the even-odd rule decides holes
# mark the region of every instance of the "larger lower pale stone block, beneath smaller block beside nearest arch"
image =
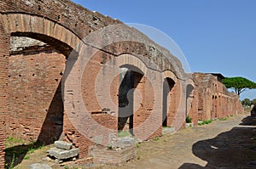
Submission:
[[69,158],[73,158],[79,155],[79,149],[58,149],[58,148],[51,148],[48,150],[50,156],[54,156],[58,160],[65,160]]

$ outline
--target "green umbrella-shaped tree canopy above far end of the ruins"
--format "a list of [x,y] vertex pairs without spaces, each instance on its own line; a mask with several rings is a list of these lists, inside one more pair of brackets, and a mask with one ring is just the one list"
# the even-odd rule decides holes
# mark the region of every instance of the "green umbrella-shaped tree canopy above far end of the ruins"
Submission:
[[244,77],[225,77],[222,81],[227,88],[231,88],[236,94],[240,95],[247,89],[256,88],[256,83]]

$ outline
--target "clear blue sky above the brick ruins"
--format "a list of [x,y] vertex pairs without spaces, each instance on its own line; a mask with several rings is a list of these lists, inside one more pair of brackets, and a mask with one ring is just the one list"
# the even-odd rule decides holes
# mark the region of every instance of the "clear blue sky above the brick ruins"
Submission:
[[[165,32],[181,48],[192,71],[244,76],[256,82],[256,0],[73,2]],[[242,93],[244,98],[255,99],[256,90]]]

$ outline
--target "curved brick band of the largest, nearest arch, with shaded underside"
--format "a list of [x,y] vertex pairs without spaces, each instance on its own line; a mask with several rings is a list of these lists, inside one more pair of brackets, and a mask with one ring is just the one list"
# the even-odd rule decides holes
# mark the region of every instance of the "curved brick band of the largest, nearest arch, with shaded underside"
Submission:
[[66,27],[32,14],[1,14],[0,20],[6,35],[32,37],[52,45],[68,56],[80,39]]

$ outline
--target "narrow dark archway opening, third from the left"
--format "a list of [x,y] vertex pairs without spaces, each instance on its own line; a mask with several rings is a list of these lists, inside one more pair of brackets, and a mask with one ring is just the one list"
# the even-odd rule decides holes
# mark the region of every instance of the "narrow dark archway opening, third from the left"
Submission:
[[172,88],[174,87],[175,82],[169,78],[166,77],[163,82],[163,105],[162,105],[162,127],[168,126],[168,113],[171,109],[172,105],[172,95],[170,92],[172,91]]

